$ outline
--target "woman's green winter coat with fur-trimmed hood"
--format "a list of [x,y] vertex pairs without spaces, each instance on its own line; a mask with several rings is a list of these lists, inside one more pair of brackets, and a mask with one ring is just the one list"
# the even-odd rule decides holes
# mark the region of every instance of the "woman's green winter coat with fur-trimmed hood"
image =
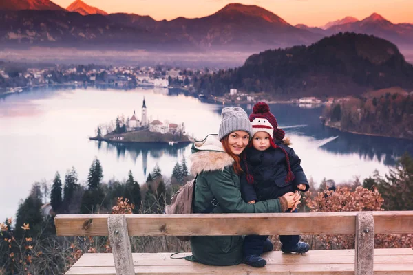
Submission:
[[[281,212],[278,199],[245,203],[241,198],[240,177],[233,170],[233,158],[225,153],[218,135],[209,135],[192,146],[191,173],[198,175],[195,184],[194,213],[202,213],[218,201],[217,213]],[[206,265],[237,265],[242,260],[244,236],[193,236],[192,261]]]

